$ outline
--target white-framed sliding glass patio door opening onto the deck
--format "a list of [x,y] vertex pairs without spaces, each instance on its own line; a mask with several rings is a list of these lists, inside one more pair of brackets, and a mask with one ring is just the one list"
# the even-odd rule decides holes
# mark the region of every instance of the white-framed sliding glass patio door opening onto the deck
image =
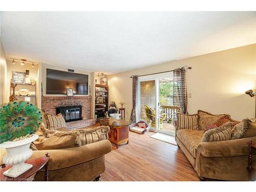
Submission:
[[137,119],[143,119],[152,131],[174,135],[173,73],[139,77]]

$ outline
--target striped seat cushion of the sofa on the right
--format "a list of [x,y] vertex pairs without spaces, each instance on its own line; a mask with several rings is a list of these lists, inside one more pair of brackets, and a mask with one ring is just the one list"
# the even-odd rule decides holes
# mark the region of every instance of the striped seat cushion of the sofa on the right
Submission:
[[196,158],[197,146],[201,143],[202,137],[204,135],[203,131],[198,130],[177,130],[177,137],[186,146],[190,154]]

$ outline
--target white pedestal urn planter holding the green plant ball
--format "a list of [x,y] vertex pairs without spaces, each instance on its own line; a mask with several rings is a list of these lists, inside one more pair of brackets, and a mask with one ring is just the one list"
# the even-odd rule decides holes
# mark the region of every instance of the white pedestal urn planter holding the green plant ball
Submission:
[[29,137],[20,141],[6,141],[0,144],[1,148],[6,148],[7,155],[3,158],[3,162],[8,165],[13,165],[12,168],[4,172],[5,176],[18,177],[19,175],[32,168],[33,165],[25,163],[30,158],[33,151],[29,148],[31,142],[35,141],[38,135],[33,134]]

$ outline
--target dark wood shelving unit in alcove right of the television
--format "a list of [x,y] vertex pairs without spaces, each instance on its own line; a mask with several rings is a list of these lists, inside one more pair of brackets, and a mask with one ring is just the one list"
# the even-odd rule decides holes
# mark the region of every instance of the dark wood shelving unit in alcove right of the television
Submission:
[[97,115],[97,119],[106,117],[106,112],[109,108],[108,103],[109,87],[95,84],[95,115]]

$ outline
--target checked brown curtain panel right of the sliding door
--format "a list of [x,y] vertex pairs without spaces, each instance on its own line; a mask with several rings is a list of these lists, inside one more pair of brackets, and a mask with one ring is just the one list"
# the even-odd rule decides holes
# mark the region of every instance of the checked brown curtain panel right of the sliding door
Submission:
[[174,70],[173,102],[183,114],[187,114],[187,84],[184,67]]

